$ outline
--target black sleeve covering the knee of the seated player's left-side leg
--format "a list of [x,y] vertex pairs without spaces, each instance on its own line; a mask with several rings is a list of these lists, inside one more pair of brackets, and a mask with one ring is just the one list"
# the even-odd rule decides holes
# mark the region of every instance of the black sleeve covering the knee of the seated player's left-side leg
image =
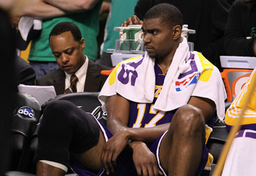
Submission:
[[95,146],[99,141],[99,130],[95,117],[71,102],[50,102],[38,129],[35,160],[46,159],[68,165],[69,152],[82,153]]

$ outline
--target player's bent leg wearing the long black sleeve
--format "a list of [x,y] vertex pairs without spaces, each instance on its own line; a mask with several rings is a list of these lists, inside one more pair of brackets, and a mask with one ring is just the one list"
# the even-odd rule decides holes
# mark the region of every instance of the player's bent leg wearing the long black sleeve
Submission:
[[71,102],[54,101],[45,108],[38,130],[37,174],[65,174],[71,153],[79,162],[86,158],[81,164],[90,171],[99,171],[104,144],[105,138],[92,115]]

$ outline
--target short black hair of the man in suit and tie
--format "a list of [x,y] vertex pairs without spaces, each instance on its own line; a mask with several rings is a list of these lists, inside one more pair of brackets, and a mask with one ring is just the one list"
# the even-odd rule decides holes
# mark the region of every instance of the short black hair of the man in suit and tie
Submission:
[[49,40],[50,40],[50,36],[61,35],[62,33],[69,32],[69,31],[72,33],[75,41],[78,41],[78,42],[81,41],[81,38],[82,38],[81,31],[78,28],[78,26],[76,26],[72,22],[62,22],[62,23],[56,24],[56,26],[54,26],[50,32]]

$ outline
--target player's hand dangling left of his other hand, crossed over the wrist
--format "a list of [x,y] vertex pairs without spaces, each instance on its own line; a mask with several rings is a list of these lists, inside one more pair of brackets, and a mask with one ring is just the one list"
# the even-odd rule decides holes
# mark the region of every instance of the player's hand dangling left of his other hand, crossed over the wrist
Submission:
[[117,156],[123,151],[128,144],[126,132],[120,130],[110,138],[102,149],[102,168],[107,174],[114,171],[117,165]]

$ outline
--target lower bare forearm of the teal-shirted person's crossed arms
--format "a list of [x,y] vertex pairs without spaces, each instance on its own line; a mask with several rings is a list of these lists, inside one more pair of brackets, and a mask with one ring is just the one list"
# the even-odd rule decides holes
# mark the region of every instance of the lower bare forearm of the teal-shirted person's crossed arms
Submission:
[[35,4],[29,5],[21,11],[20,16],[33,17],[35,19],[47,19],[51,17],[59,17],[67,14],[68,12],[62,11],[59,8],[49,5],[45,2],[36,2]]

